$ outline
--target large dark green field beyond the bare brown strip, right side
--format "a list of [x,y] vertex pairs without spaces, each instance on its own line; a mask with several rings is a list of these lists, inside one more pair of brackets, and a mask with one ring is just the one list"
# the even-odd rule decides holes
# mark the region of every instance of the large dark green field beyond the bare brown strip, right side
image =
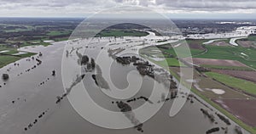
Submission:
[[[199,43],[198,45],[201,45],[202,42],[206,42],[207,40],[188,40],[188,44],[195,44]],[[228,41],[228,40],[226,40]],[[164,48],[166,47],[166,48]],[[183,45],[179,47],[174,48],[168,48],[170,47],[170,44],[162,45],[159,47],[159,49],[163,53],[170,53],[174,57],[177,57],[177,53],[179,53],[180,58],[189,57],[189,53]],[[247,66],[252,67],[253,69],[256,69],[256,49],[255,48],[246,48],[246,47],[232,47],[232,46],[212,46],[212,45],[205,45],[204,47],[207,48],[207,52],[205,53],[205,50],[201,49],[195,49],[190,48],[190,53],[192,57],[194,58],[203,58],[203,59],[230,59],[230,60],[237,60],[240,61],[243,64],[247,64]],[[242,55],[241,53],[246,54]],[[223,68],[223,67],[213,67],[212,68]],[[228,67],[229,68],[229,67]],[[225,69],[228,69],[225,68]],[[232,67],[230,69],[237,69],[236,67]],[[247,69],[245,69],[247,70]]]

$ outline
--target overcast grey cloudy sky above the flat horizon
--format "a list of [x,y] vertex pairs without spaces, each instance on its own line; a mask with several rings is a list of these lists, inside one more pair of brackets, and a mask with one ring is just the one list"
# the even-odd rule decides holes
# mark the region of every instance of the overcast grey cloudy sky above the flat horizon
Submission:
[[0,0],[0,17],[86,17],[124,5],[171,18],[256,19],[256,0]]

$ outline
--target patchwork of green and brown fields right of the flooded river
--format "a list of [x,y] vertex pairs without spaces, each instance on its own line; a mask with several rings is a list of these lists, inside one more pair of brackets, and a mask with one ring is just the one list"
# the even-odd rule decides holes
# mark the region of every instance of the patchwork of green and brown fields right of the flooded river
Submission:
[[[242,112],[241,109],[251,110],[252,105],[255,104],[253,100],[255,100],[256,95],[256,84],[254,82],[256,49],[253,47],[234,47],[229,44],[229,41],[229,39],[219,40],[207,45],[202,44],[203,42],[207,42],[207,40],[188,41],[194,64],[209,69],[207,72],[194,70],[192,91],[229,116],[230,119],[235,120],[236,123],[248,131],[255,133],[253,129],[255,127],[253,122],[253,119],[256,117],[255,114],[252,112]],[[173,46],[176,45],[170,46],[170,44],[165,44],[157,46],[157,48],[165,56],[172,55],[173,58],[177,58],[175,49],[178,49],[179,52],[183,52],[183,59],[189,57],[189,54],[183,51],[185,50],[183,45],[175,48]],[[152,51],[155,48],[147,48],[147,50],[149,49]],[[150,54],[152,53],[148,53],[148,57],[150,57]],[[172,74],[179,79],[181,76],[180,69],[178,66],[173,66],[177,62],[171,61],[170,58],[166,58],[166,61],[168,59],[167,66],[169,66]],[[160,64],[161,66],[165,65],[164,67],[166,68],[166,64],[162,64],[159,61],[154,61],[154,63]],[[230,103],[232,100],[236,100],[235,103],[242,105],[242,107],[237,108],[235,103]],[[219,103],[221,101],[224,103]],[[242,104],[247,101],[250,102],[249,105]],[[229,109],[224,106],[225,104],[228,105]],[[251,117],[247,116],[247,114]]]

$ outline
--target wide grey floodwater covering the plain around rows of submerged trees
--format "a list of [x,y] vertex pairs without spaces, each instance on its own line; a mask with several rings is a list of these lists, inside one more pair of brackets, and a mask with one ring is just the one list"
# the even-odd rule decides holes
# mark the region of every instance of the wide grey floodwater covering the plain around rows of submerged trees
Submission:
[[[77,64],[78,56],[76,52],[68,54],[66,57],[63,56],[63,50],[67,42],[55,42],[49,47],[23,47],[20,48],[21,51],[42,53],[42,56],[36,55],[35,59],[21,59],[14,64],[9,64],[3,67],[0,72],[9,74],[9,81],[2,81],[0,85],[0,133],[1,134],[45,134],[45,133],[61,133],[61,134],[82,134],[82,133],[142,133],[137,131],[137,129],[131,127],[121,130],[112,130],[107,128],[102,128],[100,126],[95,126],[89,121],[84,120],[81,113],[73,108],[72,103],[79,101],[79,93],[84,92],[86,87],[87,92],[90,94],[90,98],[100,105],[104,109],[110,109],[113,111],[119,111],[118,106],[113,103],[119,101],[119,99],[113,99],[108,96],[108,94],[119,96],[119,92],[114,92],[112,87],[119,87],[124,89],[127,95],[127,101],[131,98],[138,98],[141,96],[150,95],[152,91],[152,84],[155,83],[155,87],[159,88],[160,92],[156,92],[155,96],[152,98],[152,103],[148,103],[143,100],[137,100],[136,102],[129,103],[132,109],[137,109],[143,103],[148,103],[152,108],[159,104],[163,104],[163,107],[148,121],[143,122],[143,133],[153,134],[153,133],[206,133],[207,130],[213,127],[221,128],[220,131],[215,133],[224,133],[225,128],[228,128],[228,133],[235,133],[234,128],[236,124],[230,120],[231,125],[226,125],[223,120],[220,120],[216,113],[220,114],[216,109],[213,109],[209,104],[201,100],[200,98],[190,98],[193,100],[187,101],[183,108],[174,117],[169,116],[170,109],[172,107],[173,99],[165,102],[158,101],[161,99],[161,93],[164,92],[164,88],[160,83],[156,83],[154,79],[148,76],[141,76],[136,70],[135,66],[132,64],[122,65],[119,64],[111,57],[108,56],[108,48],[114,49],[121,46],[125,46],[125,50],[137,52],[139,48],[145,47],[139,45],[139,40],[137,42],[125,42],[125,39],[120,39],[119,45],[109,45],[107,39],[102,39],[102,41],[91,42],[90,46],[87,47],[86,51],[83,49],[78,50],[78,53],[86,54],[90,58],[96,59],[96,53],[102,51],[102,59],[96,59],[96,64],[98,64],[102,70],[102,77],[108,82],[110,89],[106,90],[99,88],[96,82],[93,81],[90,73],[86,73],[78,85],[74,86],[71,92],[67,95],[67,98],[61,98],[61,102],[55,103],[57,96],[66,92],[65,87],[70,87],[72,82],[76,80],[76,76],[79,73],[75,72],[74,64]],[[121,43],[124,42],[124,43]],[[75,42],[74,42],[75,43]],[[77,50],[76,45],[73,46]],[[70,51],[73,48],[70,47]],[[124,52],[123,52],[124,53]],[[119,53],[120,55],[122,53]],[[36,60],[38,59],[38,60]],[[61,62],[65,59],[67,62],[66,70],[61,70]],[[42,63],[38,64],[38,61]],[[108,66],[108,63],[112,63],[111,72],[112,78],[108,78],[109,69],[104,68]],[[63,63],[62,63],[63,64]],[[36,65],[36,68],[33,68]],[[28,70],[31,69],[31,70]],[[9,71],[8,71],[9,70]],[[55,70],[55,75],[52,75],[52,71]],[[62,83],[61,71],[67,72],[70,78],[65,79]],[[127,76],[127,74],[129,75]],[[75,74],[77,73],[77,74]],[[88,75],[90,74],[90,75]],[[118,74],[118,75],[114,75]],[[126,78],[128,77],[128,78]],[[111,83],[111,80],[114,83]],[[128,87],[126,81],[128,79],[132,82],[134,88],[125,89]],[[130,94],[134,92],[133,90],[138,86],[137,81],[143,80],[143,85],[139,92],[135,94]],[[217,91],[219,92],[219,91]],[[166,95],[167,96],[167,95]],[[168,95],[169,96],[169,95]],[[178,95],[177,98],[186,98],[186,95],[182,93]],[[125,97],[124,97],[125,98]],[[85,98],[86,100],[86,98]],[[80,102],[84,104],[79,112],[95,112],[96,120],[119,120],[119,122],[131,123],[126,118],[120,117],[119,119],[112,119],[111,116],[98,115],[98,111],[93,109],[86,109],[86,105],[89,102]],[[206,109],[209,114],[214,116],[215,121],[211,121],[205,114],[201,113],[201,109]],[[147,112],[145,110],[145,112]],[[120,116],[125,116],[120,114]],[[143,117],[137,116],[137,120],[141,120]],[[196,122],[196,123],[195,123]],[[117,122],[118,123],[118,122]],[[244,133],[247,133],[244,131]]]

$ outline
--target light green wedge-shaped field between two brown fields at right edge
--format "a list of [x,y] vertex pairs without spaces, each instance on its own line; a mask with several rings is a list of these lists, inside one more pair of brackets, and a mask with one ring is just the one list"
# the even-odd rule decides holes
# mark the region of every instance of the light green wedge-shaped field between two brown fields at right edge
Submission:
[[235,78],[230,75],[222,75],[214,72],[207,72],[206,75],[214,78],[217,81],[220,81],[224,84],[226,84],[229,87],[234,87],[237,89],[240,89],[244,92],[248,92],[251,94],[256,95],[256,84],[251,81],[245,81],[242,79]]

